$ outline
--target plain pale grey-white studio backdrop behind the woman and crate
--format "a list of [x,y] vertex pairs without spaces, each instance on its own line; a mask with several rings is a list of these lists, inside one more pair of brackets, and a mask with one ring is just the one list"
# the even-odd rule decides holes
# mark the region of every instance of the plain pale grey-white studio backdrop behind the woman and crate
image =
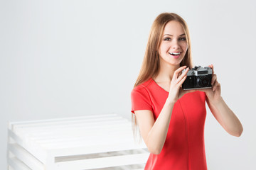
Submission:
[[0,169],[7,122],[120,113],[151,23],[175,12],[188,23],[193,63],[213,64],[222,96],[244,132],[228,135],[208,111],[208,169],[255,169],[256,2],[0,1]]

